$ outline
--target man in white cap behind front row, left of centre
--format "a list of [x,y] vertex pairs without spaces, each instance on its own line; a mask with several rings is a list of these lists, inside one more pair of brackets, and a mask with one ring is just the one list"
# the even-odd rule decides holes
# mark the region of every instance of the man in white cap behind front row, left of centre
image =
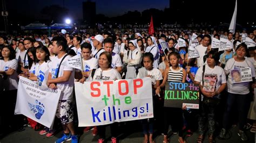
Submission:
[[104,52],[104,48],[102,46],[102,42],[104,40],[103,36],[98,34],[96,35],[95,37],[92,36],[91,37],[92,39],[92,44],[93,44],[93,47],[95,47],[95,52],[92,54],[93,58],[96,58],[96,59],[99,59],[99,55]]

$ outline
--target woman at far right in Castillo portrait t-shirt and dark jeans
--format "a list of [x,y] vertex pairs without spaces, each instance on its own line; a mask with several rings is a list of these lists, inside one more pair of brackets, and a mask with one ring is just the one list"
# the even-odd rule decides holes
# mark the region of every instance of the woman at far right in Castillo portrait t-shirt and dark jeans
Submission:
[[[227,81],[227,108],[224,113],[223,119],[223,128],[220,132],[219,138],[226,138],[226,131],[229,127],[230,116],[234,106],[238,108],[238,135],[241,140],[248,140],[247,135],[245,134],[244,126],[246,124],[247,113],[250,106],[250,88],[252,83],[254,83],[255,70],[253,64],[245,58],[245,55],[248,54],[248,48],[245,44],[240,44],[235,49],[237,56],[228,60],[226,66],[224,68],[226,75],[228,75]],[[242,72],[241,82],[233,83],[232,82],[232,74],[231,71],[233,69],[239,69],[240,71],[244,71],[247,69],[248,71]]]

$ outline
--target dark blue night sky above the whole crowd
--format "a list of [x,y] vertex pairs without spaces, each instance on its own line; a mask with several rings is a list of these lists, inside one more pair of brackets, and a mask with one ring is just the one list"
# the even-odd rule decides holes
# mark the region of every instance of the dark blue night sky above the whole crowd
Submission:
[[[82,3],[87,0],[5,0],[9,11],[9,24],[20,23],[22,25],[35,22],[36,20],[49,19],[49,16],[42,15],[40,11],[45,6],[57,4],[69,10],[67,18],[72,20],[83,19]],[[164,10],[169,8],[170,0],[91,0],[96,2],[96,14],[103,14],[107,17],[124,15],[128,11],[155,8]],[[246,24],[255,22],[256,0],[237,0],[238,14],[237,23]],[[198,22],[225,22],[230,23],[234,11],[235,0],[171,0],[171,10],[176,9],[178,13],[166,15],[166,19],[175,22],[173,15],[183,17],[190,21],[189,17],[199,19]],[[0,1],[2,11],[2,1]],[[254,17],[253,17],[254,16]],[[63,19],[64,21],[64,19]],[[3,25],[3,18],[0,19],[0,26]],[[0,28],[1,28],[0,27]]]

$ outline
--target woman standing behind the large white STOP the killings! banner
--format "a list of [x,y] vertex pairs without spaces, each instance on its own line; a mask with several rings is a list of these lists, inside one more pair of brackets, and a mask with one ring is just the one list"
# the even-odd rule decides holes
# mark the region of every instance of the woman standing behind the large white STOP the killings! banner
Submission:
[[[118,73],[116,69],[111,68],[112,64],[112,55],[110,52],[102,52],[99,56],[98,65],[99,68],[97,68],[95,71],[92,70],[90,73],[90,76],[88,77],[87,81],[114,81],[114,80],[120,80],[121,75]],[[79,82],[84,82],[83,80],[80,80]],[[105,131],[106,131],[107,125],[101,125],[97,126],[98,128],[98,134],[99,134],[99,140],[98,142],[102,143],[105,139]],[[111,130],[111,141],[116,142],[117,141],[117,123],[110,124],[110,130]]]

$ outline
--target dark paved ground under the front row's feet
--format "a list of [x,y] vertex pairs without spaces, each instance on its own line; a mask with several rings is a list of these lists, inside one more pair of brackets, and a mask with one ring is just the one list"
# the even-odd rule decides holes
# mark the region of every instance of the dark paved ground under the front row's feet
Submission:
[[[83,128],[80,128],[80,131],[83,131]],[[223,143],[228,143],[228,142],[241,142],[241,143],[245,143],[245,142],[250,142],[250,143],[254,143],[255,142],[255,138],[256,135],[254,133],[251,133],[250,131],[247,131],[248,137],[250,138],[250,140],[248,141],[241,141],[241,139],[238,137],[237,135],[237,128],[231,128],[230,132],[232,133],[232,138],[228,139],[228,140],[219,140],[216,139],[216,142],[223,142]],[[125,126],[122,128],[119,128],[119,142],[127,142],[127,143],[131,143],[131,142],[143,142],[143,134],[142,134],[142,130],[139,127],[139,125],[137,125],[137,128],[134,128],[134,126]],[[174,135],[170,133],[170,141],[169,142],[178,142],[178,135]],[[46,138],[45,135],[39,135],[38,131],[34,131],[32,128],[30,127],[25,127],[25,130],[22,132],[12,132],[8,135],[6,135],[3,139],[0,139],[0,142],[33,142],[33,143],[41,143],[41,142],[55,142],[55,140],[57,138],[60,137],[60,135],[62,134],[62,132],[59,132],[55,137],[52,138]],[[110,137],[110,128],[107,127],[106,129],[106,137]],[[198,137],[198,133],[195,132],[191,137],[185,137],[185,140],[190,143],[190,142],[196,142],[196,139]],[[98,136],[92,136],[92,131],[87,132],[87,133],[81,133],[80,134],[80,140],[79,142],[97,142],[98,140]],[[163,135],[156,135],[156,137],[154,137],[154,141],[155,142],[163,142]],[[67,141],[67,142],[71,142],[71,141]],[[110,142],[110,141],[108,141]],[[208,142],[208,139],[206,138],[204,140],[204,142]]]

